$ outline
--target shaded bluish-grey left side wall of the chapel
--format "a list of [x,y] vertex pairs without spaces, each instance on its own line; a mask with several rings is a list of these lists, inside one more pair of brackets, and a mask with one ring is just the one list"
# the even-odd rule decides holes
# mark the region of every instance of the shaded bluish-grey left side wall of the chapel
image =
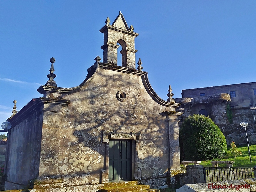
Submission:
[[[32,103],[33,100],[24,108],[28,108]],[[20,114],[20,118],[13,119],[7,142],[6,188],[27,188],[29,181],[38,176],[42,120],[43,114],[35,110]]]

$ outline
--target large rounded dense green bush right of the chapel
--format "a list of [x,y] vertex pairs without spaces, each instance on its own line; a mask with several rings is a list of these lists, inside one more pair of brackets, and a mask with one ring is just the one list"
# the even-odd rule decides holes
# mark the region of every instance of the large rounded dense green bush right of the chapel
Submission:
[[227,144],[220,128],[203,115],[188,116],[180,129],[180,148],[184,160],[202,161],[227,154]]

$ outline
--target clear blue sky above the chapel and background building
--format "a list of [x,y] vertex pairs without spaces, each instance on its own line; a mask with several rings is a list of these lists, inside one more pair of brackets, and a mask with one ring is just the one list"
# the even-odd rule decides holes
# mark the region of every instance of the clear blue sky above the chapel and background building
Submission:
[[167,100],[181,90],[255,82],[256,1],[0,1],[0,123],[46,83],[81,84],[99,55],[107,17],[133,25],[136,63]]

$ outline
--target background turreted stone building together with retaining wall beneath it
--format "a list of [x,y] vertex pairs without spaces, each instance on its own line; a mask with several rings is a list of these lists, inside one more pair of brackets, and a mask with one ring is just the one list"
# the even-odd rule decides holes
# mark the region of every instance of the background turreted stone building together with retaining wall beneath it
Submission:
[[249,143],[256,144],[256,125],[250,109],[256,106],[256,82],[186,89],[181,94],[182,98],[175,101],[184,108],[183,119],[193,114],[209,116],[220,127],[228,145],[232,141],[246,144],[245,130],[240,122],[247,121]]

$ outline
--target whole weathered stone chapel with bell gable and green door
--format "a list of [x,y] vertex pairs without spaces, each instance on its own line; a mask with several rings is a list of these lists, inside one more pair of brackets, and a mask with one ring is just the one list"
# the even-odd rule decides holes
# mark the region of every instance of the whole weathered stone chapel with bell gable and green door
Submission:
[[[161,99],[136,67],[139,34],[121,12],[100,29],[103,62],[97,56],[82,84],[58,87],[51,58],[49,80],[8,119],[5,189],[98,191],[106,183],[138,181],[164,188],[181,172],[178,116],[169,87]],[[117,48],[122,63],[117,63]],[[39,190],[40,191],[40,190]]]

